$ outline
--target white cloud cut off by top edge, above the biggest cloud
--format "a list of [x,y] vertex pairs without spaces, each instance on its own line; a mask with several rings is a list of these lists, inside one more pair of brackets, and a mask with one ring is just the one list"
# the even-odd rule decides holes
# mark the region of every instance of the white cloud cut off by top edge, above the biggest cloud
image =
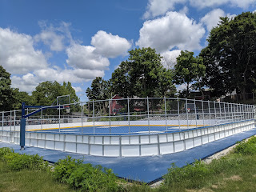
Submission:
[[186,0],[149,0],[143,18],[154,18],[166,14],[167,11],[174,10],[175,4],[184,2]]

